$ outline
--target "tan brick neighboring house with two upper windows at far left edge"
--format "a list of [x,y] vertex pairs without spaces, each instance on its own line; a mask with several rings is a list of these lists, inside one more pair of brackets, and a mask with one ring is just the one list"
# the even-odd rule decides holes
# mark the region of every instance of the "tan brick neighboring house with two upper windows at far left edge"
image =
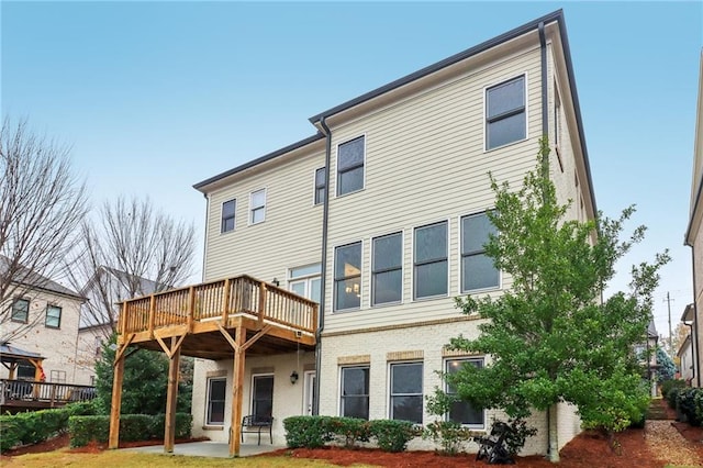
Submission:
[[[22,283],[0,304],[0,345],[41,355],[45,381],[90,385],[77,371],[78,321],[83,297],[35,271],[21,271]],[[14,378],[34,380],[36,368],[20,363]],[[10,371],[0,367],[0,378]]]

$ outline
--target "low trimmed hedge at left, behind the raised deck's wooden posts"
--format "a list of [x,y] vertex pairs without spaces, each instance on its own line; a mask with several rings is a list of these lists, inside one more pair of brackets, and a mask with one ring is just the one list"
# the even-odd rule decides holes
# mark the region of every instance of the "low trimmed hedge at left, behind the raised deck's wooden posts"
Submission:
[[[120,439],[148,441],[164,437],[164,414],[123,414],[120,416]],[[176,413],[176,437],[190,437],[192,415]],[[68,420],[70,446],[82,447],[91,441],[105,443],[110,437],[110,416],[71,416]]]

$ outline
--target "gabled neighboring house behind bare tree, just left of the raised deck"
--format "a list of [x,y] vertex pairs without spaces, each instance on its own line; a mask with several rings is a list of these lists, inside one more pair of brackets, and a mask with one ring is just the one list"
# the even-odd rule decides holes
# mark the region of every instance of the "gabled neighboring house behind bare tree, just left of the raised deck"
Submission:
[[96,271],[80,291],[86,302],[80,309],[76,366],[82,381],[94,385],[94,366],[102,354],[102,344],[116,328],[118,303],[161,289],[165,288],[159,288],[155,281],[115,268],[102,266]]

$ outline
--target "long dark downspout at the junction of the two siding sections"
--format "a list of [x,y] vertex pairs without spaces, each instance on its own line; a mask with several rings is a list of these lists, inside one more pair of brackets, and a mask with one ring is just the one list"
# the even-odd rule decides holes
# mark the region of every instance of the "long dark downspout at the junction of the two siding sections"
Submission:
[[320,119],[320,126],[327,137],[325,145],[325,199],[322,214],[322,266],[320,271],[320,310],[317,312],[317,330],[315,331],[315,398],[312,402],[312,414],[320,413],[320,368],[322,366],[321,337],[325,328],[325,296],[327,277],[327,221],[330,220],[330,160],[332,157],[332,131],[325,123],[325,118]]

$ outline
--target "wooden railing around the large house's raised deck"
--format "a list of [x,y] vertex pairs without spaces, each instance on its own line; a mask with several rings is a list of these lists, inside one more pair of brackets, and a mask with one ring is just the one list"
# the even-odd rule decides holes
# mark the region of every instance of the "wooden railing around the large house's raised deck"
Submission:
[[126,300],[118,330],[121,334],[153,332],[208,319],[226,321],[228,315],[241,313],[302,332],[314,333],[317,326],[315,302],[239,276]]

